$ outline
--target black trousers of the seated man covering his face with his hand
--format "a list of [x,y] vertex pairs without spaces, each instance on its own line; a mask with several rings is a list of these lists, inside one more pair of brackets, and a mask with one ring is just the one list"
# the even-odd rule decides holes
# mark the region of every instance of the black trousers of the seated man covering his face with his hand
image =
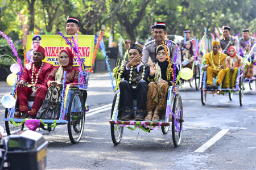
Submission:
[[137,115],[142,114],[143,116],[146,116],[147,82],[145,80],[140,80],[137,87],[133,88],[126,80],[122,80],[119,87],[120,99],[122,101],[125,114],[134,114],[133,99],[137,99]]

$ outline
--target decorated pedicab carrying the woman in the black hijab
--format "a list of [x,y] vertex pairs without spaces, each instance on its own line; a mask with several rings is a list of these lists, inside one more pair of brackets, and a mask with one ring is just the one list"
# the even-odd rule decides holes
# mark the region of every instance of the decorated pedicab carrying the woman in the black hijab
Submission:
[[[166,46],[165,46],[165,50],[166,50]],[[166,50],[166,53],[167,53],[167,50]],[[176,53],[177,53],[177,49],[176,49]],[[158,128],[161,128],[162,133],[167,134],[171,126],[172,139],[175,147],[178,147],[181,143],[181,137],[183,132],[183,122],[184,122],[183,104],[182,104],[181,96],[179,94],[179,91],[183,90],[183,87],[179,79],[180,78],[191,79],[193,75],[192,70],[185,68],[180,70],[178,75],[173,76],[174,79],[172,80],[172,82],[174,84],[173,86],[170,86],[168,88],[167,106],[164,111],[160,112],[159,121],[135,121],[134,119],[131,119],[129,121],[123,121],[121,120],[121,117],[124,115],[124,109],[122,105],[123,101],[120,101],[121,92],[120,92],[119,84],[123,80],[121,79],[121,74],[123,71],[123,66],[124,66],[124,62],[125,62],[125,58],[127,57],[127,54],[128,54],[128,50],[125,53],[125,57],[123,61],[121,62],[121,66],[115,67],[115,69],[113,70],[115,75],[115,82],[116,82],[115,84],[113,83],[112,74],[110,72],[108,56],[105,55],[110,78],[112,79],[113,90],[115,92],[110,121],[109,121],[112,141],[114,145],[118,145],[121,142],[123,130],[125,128],[130,130],[135,130],[138,128],[138,129],[142,129],[145,132],[150,132],[150,130],[156,130]],[[177,56],[175,56],[175,58],[177,58]],[[174,58],[174,61],[176,61],[175,58]],[[170,57],[168,57],[168,61],[169,61],[169,64],[171,65]],[[174,63],[174,73],[175,73],[175,70],[178,68],[179,66]],[[134,109],[134,117],[135,117],[137,112],[137,100],[133,100],[133,109]]]

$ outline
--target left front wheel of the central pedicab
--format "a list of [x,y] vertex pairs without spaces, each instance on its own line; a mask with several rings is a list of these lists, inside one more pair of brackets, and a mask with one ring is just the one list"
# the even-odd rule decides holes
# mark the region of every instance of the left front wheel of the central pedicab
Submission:
[[[115,107],[115,100],[117,100],[117,94],[115,94],[113,104],[112,104],[112,109],[111,109],[111,118],[114,112],[114,107]],[[115,125],[115,124],[110,124],[110,131],[111,131],[111,138],[114,143],[114,145],[118,145],[122,139],[123,135],[123,126]]]

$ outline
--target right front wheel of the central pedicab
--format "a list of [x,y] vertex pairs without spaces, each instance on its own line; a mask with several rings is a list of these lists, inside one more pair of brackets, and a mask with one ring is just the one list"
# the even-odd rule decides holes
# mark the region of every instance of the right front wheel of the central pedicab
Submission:
[[[174,106],[172,112],[175,114],[175,117],[172,116],[172,141],[174,141],[174,146],[178,147],[181,143],[181,136],[183,131],[183,105],[180,94],[177,94],[174,99]],[[179,117],[178,117],[179,115]],[[176,124],[175,125],[175,119]]]

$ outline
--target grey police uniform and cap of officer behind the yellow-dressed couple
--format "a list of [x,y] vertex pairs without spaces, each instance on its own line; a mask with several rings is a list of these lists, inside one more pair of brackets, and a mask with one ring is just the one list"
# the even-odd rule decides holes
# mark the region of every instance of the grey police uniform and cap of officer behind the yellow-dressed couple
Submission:
[[[230,31],[230,27],[228,25],[224,25],[222,29],[228,29]],[[232,45],[236,46],[237,50],[240,49],[240,44],[237,42],[237,39],[235,37],[229,36],[228,40],[226,40],[225,37],[220,39],[220,47],[222,49],[222,53],[229,55],[228,49]]]

